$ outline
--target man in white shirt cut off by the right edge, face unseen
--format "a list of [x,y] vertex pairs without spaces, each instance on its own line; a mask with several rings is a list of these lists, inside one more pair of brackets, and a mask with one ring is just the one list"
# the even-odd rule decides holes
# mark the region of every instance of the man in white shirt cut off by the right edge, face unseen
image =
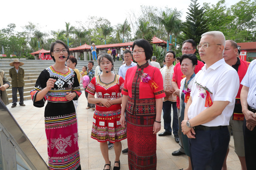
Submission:
[[250,63],[241,84],[243,87],[240,100],[245,115],[243,122],[245,162],[247,170],[254,170],[256,167],[256,60]]

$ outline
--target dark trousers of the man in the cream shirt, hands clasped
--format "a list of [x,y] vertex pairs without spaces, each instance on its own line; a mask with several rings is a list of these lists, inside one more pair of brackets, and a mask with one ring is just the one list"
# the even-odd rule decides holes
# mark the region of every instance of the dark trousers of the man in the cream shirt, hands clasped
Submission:
[[179,130],[178,113],[176,102],[165,101],[163,102],[163,127],[165,131],[172,132],[171,128],[171,108],[173,106],[173,134],[177,135]]

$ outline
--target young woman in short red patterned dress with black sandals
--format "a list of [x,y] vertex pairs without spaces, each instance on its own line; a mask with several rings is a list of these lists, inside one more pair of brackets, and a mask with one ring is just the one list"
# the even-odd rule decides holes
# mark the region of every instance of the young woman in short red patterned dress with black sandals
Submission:
[[[114,66],[111,55],[104,53],[98,59],[102,74],[94,77],[86,89],[88,102],[96,105],[91,137],[100,142],[100,150],[106,163],[104,170],[109,170],[111,166],[107,141],[114,144],[115,163],[113,170],[120,170],[121,141],[126,139],[126,127],[122,127],[119,121],[124,79],[111,73]],[[97,98],[94,98],[95,93]]]

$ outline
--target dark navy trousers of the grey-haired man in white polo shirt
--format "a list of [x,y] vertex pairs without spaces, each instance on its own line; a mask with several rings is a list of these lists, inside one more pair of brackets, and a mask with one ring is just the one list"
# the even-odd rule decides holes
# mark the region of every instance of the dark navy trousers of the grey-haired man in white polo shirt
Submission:
[[189,139],[189,153],[193,170],[221,170],[228,149],[229,132],[195,130],[195,139]]

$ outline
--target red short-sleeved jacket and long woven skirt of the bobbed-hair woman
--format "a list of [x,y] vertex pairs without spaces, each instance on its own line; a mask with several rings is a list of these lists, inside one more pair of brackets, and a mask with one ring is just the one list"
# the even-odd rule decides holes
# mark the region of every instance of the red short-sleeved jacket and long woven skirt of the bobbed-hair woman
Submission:
[[[148,73],[157,85],[141,82],[141,75]],[[128,95],[126,105],[128,165],[129,170],[156,170],[156,99],[165,97],[163,78],[158,68],[142,66],[129,68],[126,72],[123,95]]]

